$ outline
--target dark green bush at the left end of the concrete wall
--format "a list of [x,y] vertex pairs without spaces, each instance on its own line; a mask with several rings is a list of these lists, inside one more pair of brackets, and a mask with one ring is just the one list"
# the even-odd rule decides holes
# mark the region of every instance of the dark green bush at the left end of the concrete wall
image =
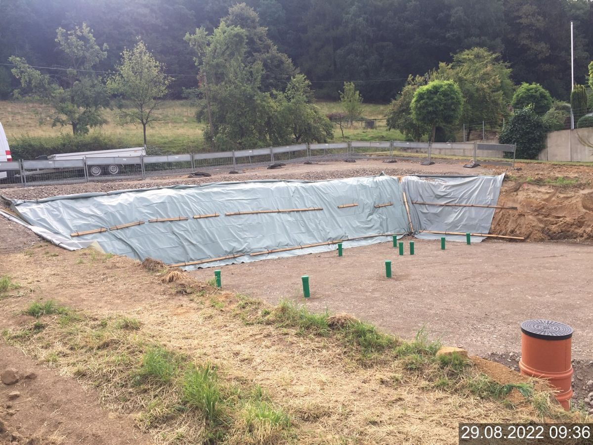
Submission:
[[499,136],[500,144],[517,145],[519,159],[535,159],[546,147],[546,126],[532,104],[515,110]]

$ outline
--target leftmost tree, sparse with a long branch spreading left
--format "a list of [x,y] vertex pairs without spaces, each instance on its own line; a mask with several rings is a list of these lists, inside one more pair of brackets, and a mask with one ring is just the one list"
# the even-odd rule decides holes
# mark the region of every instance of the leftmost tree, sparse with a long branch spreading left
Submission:
[[93,31],[85,23],[68,32],[58,28],[56,42],[66,62],[58,75],[43,74],[24,58],[9,58],[16,65],[12,74],[23,87],[15,91],[15,96],[26,94],[48,104],[53,109],[52,126],[71,125],[74,135],[86,134],[89,128],[106,122],[101,110],[109,106],[109,97],[93,68],[106,58],[107,46],[97,45]]

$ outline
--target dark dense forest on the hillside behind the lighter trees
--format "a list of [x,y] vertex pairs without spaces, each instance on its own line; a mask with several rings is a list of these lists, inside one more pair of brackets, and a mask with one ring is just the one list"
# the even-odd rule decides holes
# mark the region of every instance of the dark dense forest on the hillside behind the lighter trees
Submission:
[[[512,80],[537,82],[552,96],[570,92],[570,21],[575,26],[575,82],[585,84],[593,58],[590,0],[244,0],[267,36],[311,81],[318,97],[338,97],[355,81],[365,101],[396,97],[410,74],[423,75],[472,47],[500,53]],[[195,51],[186,33],[211,32],[237,0],[3,0],[0,63],[10,56],[36,66],[65,66],[56,29],[87,23],[107,55],[94,69],[112,71],[122,51],[142,39],[171,75],[171,97],[196,87]],[[276,61],[285,63],[285,61]],[[18,87],[0,65],[0,97]],[[70,67],[67,67],[70,68]],[[267,69],[267,72],[273,72]],[[288,83],[269,74],[263,82]],[[273,85],[278,84],[278,85]],[[286,86],[286,85],[285,85]]]

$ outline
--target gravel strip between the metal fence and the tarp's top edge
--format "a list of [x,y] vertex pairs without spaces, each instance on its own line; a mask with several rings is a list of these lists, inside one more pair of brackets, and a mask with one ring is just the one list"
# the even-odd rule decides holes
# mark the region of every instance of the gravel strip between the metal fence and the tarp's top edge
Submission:
[[0,189],[0,195],[9,199],[41,199],[48,196],[73,195],[86,192],[109,192],[111,190],[142,189],[146,187],[166,187],[177,184],[204,184],[209,182],[247,181],[258,179],[301,179],[324,180],[343,177],[374,176],[384,171],[392,176],[408,174],[490,174],[482,167],[464,169],[459,161],[439,161],[433,166],[420,166],[417,162],[384,163],[381,160],[358,160],[356,163],[340,161],[312,165],[287,164],[282,169],[267,170],[266,167],[245,170],[241,174],[228,174],[225,170],[211,170],[211,177],[189,178],[184,176],[151,177],[136,180],[118,180],[110,182],[91,182],[70,185],[48,185],[34,187],[15,187]]

